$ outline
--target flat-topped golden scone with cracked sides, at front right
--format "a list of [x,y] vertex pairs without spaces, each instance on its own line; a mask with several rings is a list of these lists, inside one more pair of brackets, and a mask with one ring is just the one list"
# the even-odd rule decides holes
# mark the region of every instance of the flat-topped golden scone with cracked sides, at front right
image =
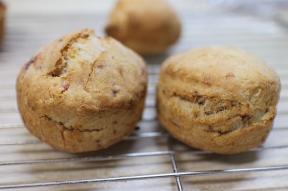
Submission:
[[280,89],[275,71],[245,51],[228,46],[191,49],[162,65],[158,117],[192,147],[240,153],[266,140]]

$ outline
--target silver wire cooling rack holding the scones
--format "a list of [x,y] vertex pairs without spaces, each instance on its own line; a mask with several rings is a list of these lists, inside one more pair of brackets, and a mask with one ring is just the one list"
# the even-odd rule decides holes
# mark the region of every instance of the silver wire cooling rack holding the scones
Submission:
[[[107,14],[8,12],[0,49],[0,189],[288,190],[287,28],[274,19],[247,13],[195,13],[185,8],[179,10],[183,33],[178,44],[166,55],[145,58],[148,96],[134,133],[108,149],[83,154],[56,151],[26,130],[17,111],[15,80],[20,67],[51,40],[80,28],[103,35]],[[160,64],[170,54],[210,44],[246,49],[281,77],[274,129],[265,144],[249,152],[225,156],[192,149],[173,139],[157,121]]]

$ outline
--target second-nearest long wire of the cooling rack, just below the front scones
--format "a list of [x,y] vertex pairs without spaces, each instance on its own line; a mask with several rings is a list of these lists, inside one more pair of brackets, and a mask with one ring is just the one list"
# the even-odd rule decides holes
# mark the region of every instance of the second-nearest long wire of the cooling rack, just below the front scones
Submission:
[[[267,149],[285,149],[288,145],[274,145],[274,146],[260,146],[247,152],[263,151]],[[201,150],[189,150],[189,151],[153,151],[153,152],[141,152],[141,153],[127,153],[122,155],[111,155],[101,157],[77,157],[77,158],[61,158],[61,159],[35,159],[35,160],[18,160],[18,161],[0,161],[2,165],[17,165],[17,164],[40,164],[40,163],[54,163],[54,162],[81,162],[81,161],[103,161],[103,160],[116,160],[126,159],[131,157],[152,157],[152,156],[163,156],[163,155],[187,155],[187,154],[211,154],[208,151]],[[174,161],[174,162],[173,162]],[[175,159],[171,160],[173,170],[177,172],[177,166]]]

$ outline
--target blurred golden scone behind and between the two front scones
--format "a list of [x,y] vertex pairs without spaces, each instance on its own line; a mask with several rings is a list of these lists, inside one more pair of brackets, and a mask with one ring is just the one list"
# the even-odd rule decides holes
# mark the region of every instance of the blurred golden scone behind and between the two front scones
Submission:
[[164,52],[179,38],[181,25],[163,0],[120,0],[106,33],[142,55]]

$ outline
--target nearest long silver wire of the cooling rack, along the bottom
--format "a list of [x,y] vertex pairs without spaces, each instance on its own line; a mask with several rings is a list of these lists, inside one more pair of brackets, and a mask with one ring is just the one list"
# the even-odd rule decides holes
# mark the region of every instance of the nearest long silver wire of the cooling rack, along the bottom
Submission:
[[148,175],[123,176],[123,177],[111,177],[111,178],[10,184],[10,185],[0,185],[0,189],[17,189],[17,188],[20,189],[20,188],[31,188],[31,187],[65,186],[65,185],[76,185],[76,184],[123,182],[123,181],[133,181],[133,180],[148,180],[148,179],[184,177],[184,176],[223,175],[223,174],[236,174],[236,173],[261,172],[261,171],[272,171],[272,170],[287,170],[287,169],[288,169],[288,165],[253,167],[253,168],[235,168],[235,169],[225,169],[225,170],[174,172],[174,173],[148,174]]

